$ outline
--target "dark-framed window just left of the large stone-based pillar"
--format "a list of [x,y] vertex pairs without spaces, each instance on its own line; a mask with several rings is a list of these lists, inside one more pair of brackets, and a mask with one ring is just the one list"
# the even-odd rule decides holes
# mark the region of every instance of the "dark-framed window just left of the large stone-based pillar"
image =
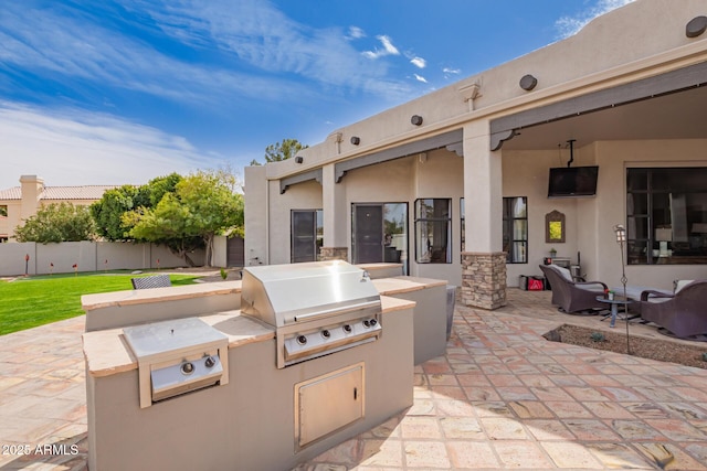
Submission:
[[452,263],[452,200],[415,201],[415,260],[419,264]]

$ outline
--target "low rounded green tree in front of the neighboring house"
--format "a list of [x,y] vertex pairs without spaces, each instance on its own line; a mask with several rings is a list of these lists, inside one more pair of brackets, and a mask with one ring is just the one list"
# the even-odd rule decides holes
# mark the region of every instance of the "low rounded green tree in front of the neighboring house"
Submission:
[[78,242],[94,238],[95,224],[86,206],[53,203],[42,206],[35,215],[14,229],[18,242]]

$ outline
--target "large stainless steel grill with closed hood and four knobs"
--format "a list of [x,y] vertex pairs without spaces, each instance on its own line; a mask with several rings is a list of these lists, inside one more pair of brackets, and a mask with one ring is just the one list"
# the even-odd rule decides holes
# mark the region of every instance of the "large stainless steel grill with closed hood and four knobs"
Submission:
[[278,368],[382,334],[378,290],[340,260],[244,268],[241,312],[275,328]]

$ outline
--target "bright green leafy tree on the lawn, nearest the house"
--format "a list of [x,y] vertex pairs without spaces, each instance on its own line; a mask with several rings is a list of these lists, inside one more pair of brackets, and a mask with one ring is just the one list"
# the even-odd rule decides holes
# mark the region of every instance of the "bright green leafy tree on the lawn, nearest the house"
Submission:
[[214,236],[243,227],[243,196],[236,188],[238,179],[225,170],[199,171],[180,180],[154,208],[127,213],[124,224],[133,225],[133,237],[165,244],[187,261],[201,245],[210,266]]

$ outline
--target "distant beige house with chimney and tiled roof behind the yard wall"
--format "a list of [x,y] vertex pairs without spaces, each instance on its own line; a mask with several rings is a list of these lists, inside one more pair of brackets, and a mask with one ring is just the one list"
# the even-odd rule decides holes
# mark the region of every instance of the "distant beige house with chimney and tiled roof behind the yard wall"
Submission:
[[20,176],[20,186],[0,190],[0,207],[7,216],[0,217],[0,242],[13,242],[14,228],[36,214],[42,205],[72,203],[89,205],[103,197],[115,185],[44,186],[36,175]]

